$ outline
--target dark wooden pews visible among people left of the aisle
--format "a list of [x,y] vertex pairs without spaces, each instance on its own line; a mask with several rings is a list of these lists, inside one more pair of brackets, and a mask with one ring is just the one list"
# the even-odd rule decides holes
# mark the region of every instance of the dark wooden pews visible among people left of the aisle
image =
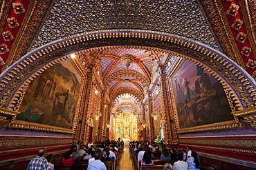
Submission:
[[[124,149],[124,146],[121,145],[121,148],[119,149],[118,154],[116,156],[116,160],[114,160],[114,158],[112,158],[112,160],[105,160],[104,164],[106,165],[107,170],[116,170],[116,167],[121,158],[123,149]],[[82,165],[79,167],[75,167],[74,165],[69,165],[69,164],[66,165],[59,162],[54,165],[54,169],[55,170],[86,170],[89,164],[88,162],[89,160],[83,160]]]

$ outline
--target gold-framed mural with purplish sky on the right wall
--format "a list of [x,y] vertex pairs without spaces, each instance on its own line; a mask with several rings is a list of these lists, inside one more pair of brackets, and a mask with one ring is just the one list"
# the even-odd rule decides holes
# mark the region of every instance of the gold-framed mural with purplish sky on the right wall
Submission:
[[234,120],[221,83],[199,65],[185,61],[172,85],[181,129]]

